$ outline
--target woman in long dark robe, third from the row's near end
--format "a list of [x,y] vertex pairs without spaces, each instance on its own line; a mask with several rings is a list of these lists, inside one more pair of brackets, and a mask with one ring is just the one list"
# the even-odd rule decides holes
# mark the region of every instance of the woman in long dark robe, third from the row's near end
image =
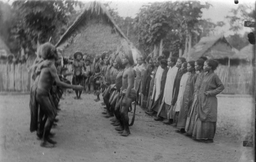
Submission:
[[189,61],[187,70],[189,73],[187,84],[185,86],[183,101],[180,107],[180,112],[178,116],[176,132],[185,133],[185,125],[188,116],[188,110],[193,100],[194,86],[196,82],[196,72],[195,72],[195,61]]

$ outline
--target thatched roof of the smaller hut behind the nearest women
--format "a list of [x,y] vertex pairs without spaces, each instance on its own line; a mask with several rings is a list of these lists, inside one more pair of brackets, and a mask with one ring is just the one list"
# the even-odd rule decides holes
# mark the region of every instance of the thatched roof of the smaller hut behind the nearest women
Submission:
[[190,57],[192,60],[197,60],[201,56],[208,59],[230,58],[234,55],[232,48],[223,35],[202,37],[191,49]]

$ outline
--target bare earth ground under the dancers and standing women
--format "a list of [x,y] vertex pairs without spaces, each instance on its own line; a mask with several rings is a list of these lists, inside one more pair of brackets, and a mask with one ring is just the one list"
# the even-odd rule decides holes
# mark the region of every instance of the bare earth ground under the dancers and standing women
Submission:
[[[175,128],[156,122],[137,106],[131,135],[122,137],[103,118],[95,96],[74,93],[61,100],[59,122],[52,130],[55,148],[40,147],[30,133],[29,95],[0,95],[1,162],[248,162],[252,147],[243,147],[254,124],[250,97],[218,96],[218,122],[214,143],[199,143]],[[132,114],[130,114],[132,115]],[[253,121],[253,122],[252,122]],[[254,127],[253,127],[254,128]]]

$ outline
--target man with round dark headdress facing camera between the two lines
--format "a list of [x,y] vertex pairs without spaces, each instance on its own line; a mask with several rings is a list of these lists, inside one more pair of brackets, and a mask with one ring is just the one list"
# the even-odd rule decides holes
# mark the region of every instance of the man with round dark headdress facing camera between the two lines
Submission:
[[[72,64],[72,71],[74,72],[73,78],[72,78],[72,84],[73,85],[83,85],[83,74],[82,69],[84,68],[84,71],[86,70],[85,63],[82,61],[83,54],[82,52],[75,52],[74,54],[74,62]],[[82,91],[75,91],[76,97],[75,99],[81,99],[81,93]]]

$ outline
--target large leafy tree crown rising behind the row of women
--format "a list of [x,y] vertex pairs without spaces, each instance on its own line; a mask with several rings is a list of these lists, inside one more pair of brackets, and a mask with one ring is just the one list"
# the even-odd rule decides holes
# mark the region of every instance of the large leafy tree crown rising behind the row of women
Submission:
[[[139,45],[151,52],[152,46],[163,39],[165,49],[177,55],[179,48],[185,48],[188,35],[192,35],[193,40],[198,40],[195,37],[207,32],[203,31],[200,23],[209,21],[201,20],[201,9],[208,7],[210,4],[202,5],[199,1],[168,1],[144,5],[135,17]],[[214,27],[215,24],[211,25]]]

